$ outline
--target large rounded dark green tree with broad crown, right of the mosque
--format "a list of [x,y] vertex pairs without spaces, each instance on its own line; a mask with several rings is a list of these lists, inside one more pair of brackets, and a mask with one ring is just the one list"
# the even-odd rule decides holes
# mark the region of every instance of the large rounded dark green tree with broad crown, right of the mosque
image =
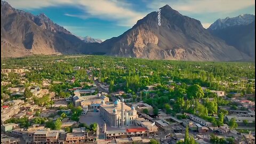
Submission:
[[204,97],[203,89],[200,85],[190,85],[187,90],[188,99],[201,99]]

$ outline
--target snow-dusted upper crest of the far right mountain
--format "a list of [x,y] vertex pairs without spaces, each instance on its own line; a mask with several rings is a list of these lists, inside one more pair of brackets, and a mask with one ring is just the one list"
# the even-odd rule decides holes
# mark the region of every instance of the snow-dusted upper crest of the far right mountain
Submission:
[[234,18],[218,19],[208,28],[209,30],[224,29],[230,26],[249,25],[255,20],[253,14],[241,14]]

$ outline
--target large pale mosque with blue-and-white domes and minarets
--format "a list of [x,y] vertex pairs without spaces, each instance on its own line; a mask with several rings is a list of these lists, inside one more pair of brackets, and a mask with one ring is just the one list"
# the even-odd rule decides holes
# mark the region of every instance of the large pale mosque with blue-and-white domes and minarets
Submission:
[[134,124],[134,119],[138,118],[135,108],[125,105],[123,99],[118,99],[111,105],[106,105],[105,101],[102,101],[100,116],[111,127],[130,126]]

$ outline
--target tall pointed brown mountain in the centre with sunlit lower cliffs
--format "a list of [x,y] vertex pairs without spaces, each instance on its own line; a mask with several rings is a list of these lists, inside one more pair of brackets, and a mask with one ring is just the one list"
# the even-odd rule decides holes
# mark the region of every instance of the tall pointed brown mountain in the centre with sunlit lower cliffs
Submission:
[[[201,22],[180,14],[169,5],[151,12],[124,34],[101,43],[108,55],[145,59],[234,61],[250,57],[212,36]],[[103,47],[103,48],[102,48]]]

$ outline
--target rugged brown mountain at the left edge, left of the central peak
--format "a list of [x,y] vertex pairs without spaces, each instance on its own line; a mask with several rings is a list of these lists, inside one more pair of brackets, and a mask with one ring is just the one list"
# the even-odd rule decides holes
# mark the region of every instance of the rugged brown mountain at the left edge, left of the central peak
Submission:
[[1,1],[1,58],[79,53],[84,42],[45,14],[33,15]]

